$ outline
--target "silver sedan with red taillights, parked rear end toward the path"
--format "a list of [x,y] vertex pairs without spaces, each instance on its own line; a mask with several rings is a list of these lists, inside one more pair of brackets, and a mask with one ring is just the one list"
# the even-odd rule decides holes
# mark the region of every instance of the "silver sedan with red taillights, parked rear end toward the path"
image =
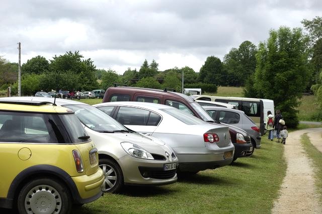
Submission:
[[228,127],[154,103],[110,102],[94,106],[129,129],[167,142],[179,158],[180,172],[196,173],[232,162],[234,146]]

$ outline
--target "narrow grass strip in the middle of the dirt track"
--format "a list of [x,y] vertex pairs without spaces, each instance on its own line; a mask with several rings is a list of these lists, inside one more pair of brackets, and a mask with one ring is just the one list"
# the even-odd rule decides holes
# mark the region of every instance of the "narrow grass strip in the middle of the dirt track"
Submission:
[[306,154],[309,156],[309,158],[313,162],[313,168],[314,168],[314,184],[317,189],[317,193],[320,195],[319,197],[319,203],[322,205],[322,153],[313,146],[307,136],[307,134],[303,134],[301,136],[301,143],[303,145],[303,148],[306,152]]

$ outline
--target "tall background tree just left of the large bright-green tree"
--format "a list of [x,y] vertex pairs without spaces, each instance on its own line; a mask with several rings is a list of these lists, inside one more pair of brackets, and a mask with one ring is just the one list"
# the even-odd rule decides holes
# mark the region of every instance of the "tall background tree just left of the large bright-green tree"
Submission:
[[227,71],[228,85],[244,86],[249,77],[255,73],[257,48],[250,41],[240,44],[239,48],[232,48],[224,57]]

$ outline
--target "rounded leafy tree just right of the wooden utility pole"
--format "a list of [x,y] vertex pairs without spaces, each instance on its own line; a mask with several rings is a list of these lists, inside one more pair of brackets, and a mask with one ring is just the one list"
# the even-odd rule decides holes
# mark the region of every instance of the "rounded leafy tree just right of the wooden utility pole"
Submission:
[[23,74],[42,74],[48,72],[48,70],[49,62],[41,56],[33,57],[21,66]]

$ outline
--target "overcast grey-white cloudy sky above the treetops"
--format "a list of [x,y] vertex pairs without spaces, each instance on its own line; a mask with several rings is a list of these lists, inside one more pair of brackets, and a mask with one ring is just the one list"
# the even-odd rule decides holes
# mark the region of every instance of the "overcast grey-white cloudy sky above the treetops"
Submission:
[[119,74],[144,59],[199,72],[208,56],[222,60],[246,40],[266,41],[270,29],[321,15],[320,0],[2,0],[0,56],[18,63],[21,42],[22,64],[79,51]]

